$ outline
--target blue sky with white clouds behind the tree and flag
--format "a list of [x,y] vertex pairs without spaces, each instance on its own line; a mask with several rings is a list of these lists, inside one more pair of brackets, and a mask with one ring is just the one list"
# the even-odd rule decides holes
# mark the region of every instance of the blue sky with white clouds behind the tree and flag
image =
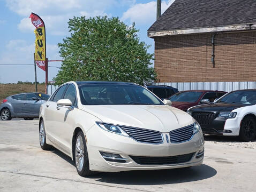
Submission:
[[[162,0],[162,13],[174,0]],[[0,64],[34,64],[34,26],[28,18],[38,14],[46,25],[46,46],[49,60],[61,59],[57,43],[69,36],[67,21],[73,16],[95,17],[108,15],[119,17],[127,25],[135,22],[140,30],[141,41],[152,45],[147,29],[156,17],[156,0],[0,0]],[[60,67],[61,62],[49,62]],[[58,73],[58,68],[49,68],[48,81]],[[0,66],[0,83],[18,81],[34,82],[34,66]],[[44,82],[44,71],[37,67],[37,81]]]

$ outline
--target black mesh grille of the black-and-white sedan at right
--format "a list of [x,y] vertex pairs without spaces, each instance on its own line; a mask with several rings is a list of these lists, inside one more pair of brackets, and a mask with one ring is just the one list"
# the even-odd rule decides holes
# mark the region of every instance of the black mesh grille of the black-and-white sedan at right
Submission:
[[197,120],[202,128],[208,127],[214,119],[214,113],[210,112],[193,112],[192,117]]

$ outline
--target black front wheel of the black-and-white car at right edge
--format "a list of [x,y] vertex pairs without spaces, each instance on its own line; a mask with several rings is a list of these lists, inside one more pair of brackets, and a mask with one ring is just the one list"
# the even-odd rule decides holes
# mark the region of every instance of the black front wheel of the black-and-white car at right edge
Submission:
[[247,116],[243,119],[240,126],[239,137],[243,141],[252,141],[256,135],[256,122],[251,116]]

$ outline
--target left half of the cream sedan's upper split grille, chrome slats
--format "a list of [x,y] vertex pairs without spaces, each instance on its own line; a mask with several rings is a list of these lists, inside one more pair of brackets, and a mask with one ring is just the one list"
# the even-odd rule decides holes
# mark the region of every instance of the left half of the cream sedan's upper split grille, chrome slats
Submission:
[[162,134],[159,131],[141,129],[137,127],[122,126],[122,129],[129,134],[129,136],[136,141],[160,144],[163,142]]

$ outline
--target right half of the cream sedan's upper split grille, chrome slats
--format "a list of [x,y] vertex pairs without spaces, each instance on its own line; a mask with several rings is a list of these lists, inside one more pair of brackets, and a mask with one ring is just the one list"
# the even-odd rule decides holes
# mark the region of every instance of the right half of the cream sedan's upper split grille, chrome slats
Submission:
[[193,135],[193,129],[194,124],[171,131],[170,141],[172,143],[180,143],[190,140]]

